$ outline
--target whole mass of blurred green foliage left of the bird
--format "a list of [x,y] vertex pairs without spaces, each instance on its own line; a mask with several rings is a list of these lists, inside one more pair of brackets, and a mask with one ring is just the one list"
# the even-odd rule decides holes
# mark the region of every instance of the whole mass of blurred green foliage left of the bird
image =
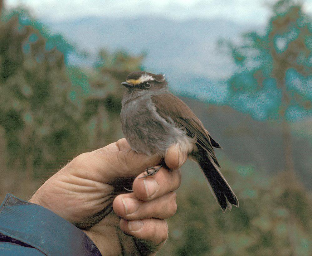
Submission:
[[81,70],[66,67],[72,51],[24,9],[2,17],[0,140],[7,164],[28,178],[118,137],[121,82],[143,56],[102,50],[94,69]]

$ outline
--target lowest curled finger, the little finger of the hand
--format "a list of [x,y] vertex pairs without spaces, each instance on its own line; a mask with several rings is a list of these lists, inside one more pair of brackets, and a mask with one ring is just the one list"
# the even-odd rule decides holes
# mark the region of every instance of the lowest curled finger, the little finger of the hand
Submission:
[[165,220],[120,220],[120,229],[124,233],[141,240],[150,251],[160,249],[168,238],[168,225]]

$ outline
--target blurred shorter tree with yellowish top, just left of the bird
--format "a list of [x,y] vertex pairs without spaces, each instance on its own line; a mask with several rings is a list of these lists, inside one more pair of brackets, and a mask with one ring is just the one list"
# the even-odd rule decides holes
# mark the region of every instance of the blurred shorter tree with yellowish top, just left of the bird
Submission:
[[121,82],[132,72],[141,69],[144,55],[131,56],[125,51],[98,53],[90,73],[90,94],[85,99],[85,117],[95,122],[95,147],[113,142],[120,130],[119,113],[124,92]]

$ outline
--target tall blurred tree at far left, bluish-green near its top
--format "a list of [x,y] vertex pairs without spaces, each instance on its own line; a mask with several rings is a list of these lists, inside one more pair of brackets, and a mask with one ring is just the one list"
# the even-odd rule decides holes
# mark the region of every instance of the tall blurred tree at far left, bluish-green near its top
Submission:
[[[85,131],[71,101],[64,55],[46,38],[12,16],[0,22],[0,126],[7,164],[25,172],[55,169],[84,146]],[[42,175],[41,175],[42,176]]]

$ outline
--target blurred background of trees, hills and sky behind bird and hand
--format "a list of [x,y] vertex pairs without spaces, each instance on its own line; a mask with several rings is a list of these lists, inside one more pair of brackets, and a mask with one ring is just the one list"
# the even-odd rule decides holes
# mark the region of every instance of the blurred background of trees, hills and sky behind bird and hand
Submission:
[[164,73],[240,207],[183,167],[160,255],[312,254],[312,2],[0,0],[0,200],[123,137],[120,83]]

